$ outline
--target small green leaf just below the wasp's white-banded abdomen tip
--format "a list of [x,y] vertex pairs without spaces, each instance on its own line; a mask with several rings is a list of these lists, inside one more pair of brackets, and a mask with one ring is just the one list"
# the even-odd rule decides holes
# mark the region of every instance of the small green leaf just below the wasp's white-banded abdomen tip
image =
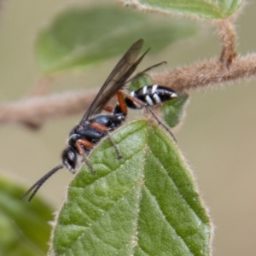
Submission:
[[189,95],[187,93],[177,94],[177,98],[165,102],[161,108],[164,120],[169,127],[177,126],[183,120],[183,113]]

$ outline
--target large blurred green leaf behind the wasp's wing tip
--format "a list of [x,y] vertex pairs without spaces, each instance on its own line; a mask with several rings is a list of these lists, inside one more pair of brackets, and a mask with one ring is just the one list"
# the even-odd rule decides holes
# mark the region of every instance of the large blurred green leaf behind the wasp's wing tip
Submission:
[[50,74],[124,54],[139,38],[156,53],[194,33],[195,26],[121,6],[68,9],[39,34],[36,55],[41,70]]

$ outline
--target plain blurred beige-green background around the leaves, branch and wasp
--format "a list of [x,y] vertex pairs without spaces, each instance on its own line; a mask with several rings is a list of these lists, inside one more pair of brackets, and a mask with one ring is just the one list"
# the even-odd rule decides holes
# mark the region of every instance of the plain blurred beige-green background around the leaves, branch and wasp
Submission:
[[[91,3],[79,0],[3,3],[0,9],[1,102],[28,96],[41,78],[34,55],[34,42],[40,29],[62,10]],[[239,55],[256,51],[255,12],[256,3],[251,1],[236,20]],[[177,41],[159,55],[147,55],[140,69],[158,61],[168,61],[167,67],[172,68],[220,55],[216,31],[206,22],[195,24],[199,26],[195,36]],[[55,79],[50,92],[100,87],[118,60],[119,57],[84,72],[65,74]],[[215,225],[213,254],[217,256],[256,255],[255,84],[256,78],[220,85],[217,90],[191,93],[186,118],[175,131],[178,146],[193,168],[202,197],[210,208]],[[29,188],[60,163],[67,134],[80,117],[51,120],[39,131],[29,131],[20,125],[0,126],[1,172]],[[67,170],[62,170],[44,184],[40,194],[57,208],[72,178]]]

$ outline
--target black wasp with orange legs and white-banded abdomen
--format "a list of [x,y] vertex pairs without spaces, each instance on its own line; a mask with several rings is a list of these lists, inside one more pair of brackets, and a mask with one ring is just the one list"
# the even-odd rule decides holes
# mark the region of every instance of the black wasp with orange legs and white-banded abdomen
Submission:
[[[109,137],[119,158],[121,158],[118,148],[116,148],[116,145],[112,141],[109,132],[116,130],[125,122],[127,108],[147,108],[154,115],[154,118],[157,119],[157,116],[154,114],[150,106],[166,102],[177,97],[174,90],[158,84],[146,85],[139,90],[131,92],[124,90],[125,84],[131,81],[131,79],[128,80],[131,77],[131,74],[134,73],[138,64],[143,60],[143,57],[149,50],[148,49],[142,56],[137,58],[142,47],[143,39],[132,44],[130,49],[126,51],[125,55],[123,55],[117,65],[113,68],[108,79],[102,85],[102,88],[91,103],[90,108],[88,108],[84,113],[79,124],[75,125],[73,130],[69,133],[67,148],[65,148],[61,154],[61,164],[59,166],[55,166],[55,168],[41,177],[30,189],[26,191],[24,195],[21,196],[20,199],[23,199],[26,195],[32,192],[28,198],[28,201],[31,201],[43,183],[55,172],[64,167],[66,167],[70,172],[75,173],[79,171],[85,162],[87,166],[90,167],[91,172],[95,172],[93,166],[90,165],[90,161],[87,159],[87,156],[90,154],[91,149],[94,148],[94,146],[99,143],[103,137]],[[147,68],[143,73],[152,67]],[[117,95],[118,103],[114,108],[106,107],[108,101],[114,95]],[[100,114],[104,109],[111,113]],[[157,120],[160,123],[160,120]],[[163,125],[162,123],[160,124]],[[165,125],[163,126],[168,130]]]

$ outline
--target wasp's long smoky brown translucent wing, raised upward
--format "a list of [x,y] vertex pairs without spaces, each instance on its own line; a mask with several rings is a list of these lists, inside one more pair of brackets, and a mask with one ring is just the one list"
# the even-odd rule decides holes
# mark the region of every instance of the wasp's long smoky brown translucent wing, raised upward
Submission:
[[[104,106],[113,97],[113,95],[117,92],[117,90],[119,90],[120,88],[122,88],[122,86],[124,86],[125,81],[123,80],[128,79],[129,77],[127,76],[128,75],[130,76],[131,73],[133,73],[133,71],[135,70],[135,67],[134,68],[131,68],[131,67],[133,67],[134,63],[137,63],[136,59],[142,47],[143,47],[143,39],[139,39],[136,43],[131,45],[130,49],[126,51],[125,55],[120,59],[118,64],[113,68],[113,71],[108,76],[108,79],[102,85],[101,90],[99,90],[94,101],[91,103],[90,108],[88,108],[88,110],[84,113],[84,116],[80,121],[80,124],[83,123],[85,120],[89,119],[91,115],[100,113],[102,111],[102,108],[104,108]],[[139,60],[142,61],[142,57]]]

